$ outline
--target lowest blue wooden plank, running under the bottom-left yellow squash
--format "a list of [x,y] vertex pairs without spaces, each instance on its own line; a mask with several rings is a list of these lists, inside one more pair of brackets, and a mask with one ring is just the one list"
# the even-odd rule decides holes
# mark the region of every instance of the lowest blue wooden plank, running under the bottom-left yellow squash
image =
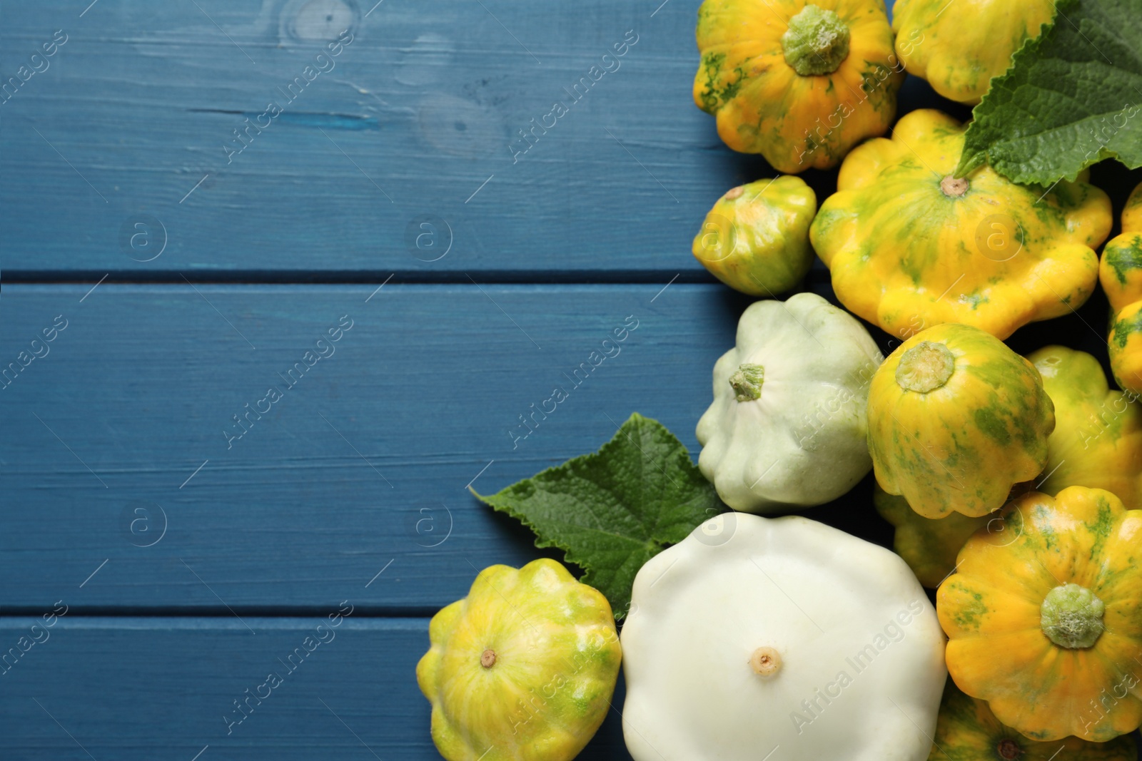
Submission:
[[[0,618],[0,645],[22,653],[0,675],[5,758],[439,759],[415,674],[428,621],[363,618],[352,606],[244,623],[69,613],[46,628],[40,617]],[[351,609],[330,625],[328,615]],[[618,711],[584,758],[629,759]]]

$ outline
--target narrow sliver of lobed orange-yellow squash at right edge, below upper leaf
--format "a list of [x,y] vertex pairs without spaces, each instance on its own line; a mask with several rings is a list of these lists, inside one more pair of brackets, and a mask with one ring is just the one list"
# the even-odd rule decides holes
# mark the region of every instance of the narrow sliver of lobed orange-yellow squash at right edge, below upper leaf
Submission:
[[1118,384],[1142,394],[1142,185],[1123,210],[1123,233],[1107,243],[1099,281],[1110,300],[1110,369]]

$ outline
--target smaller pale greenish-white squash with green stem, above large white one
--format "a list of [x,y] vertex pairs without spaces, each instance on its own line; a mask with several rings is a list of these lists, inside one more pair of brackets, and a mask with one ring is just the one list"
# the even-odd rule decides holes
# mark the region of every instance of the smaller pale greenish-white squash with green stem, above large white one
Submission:
[[734,510],[829,502],[871,467],[864,402],[880,364],[868,331],[814,293],[756,301],[714,365],[698,468]]

